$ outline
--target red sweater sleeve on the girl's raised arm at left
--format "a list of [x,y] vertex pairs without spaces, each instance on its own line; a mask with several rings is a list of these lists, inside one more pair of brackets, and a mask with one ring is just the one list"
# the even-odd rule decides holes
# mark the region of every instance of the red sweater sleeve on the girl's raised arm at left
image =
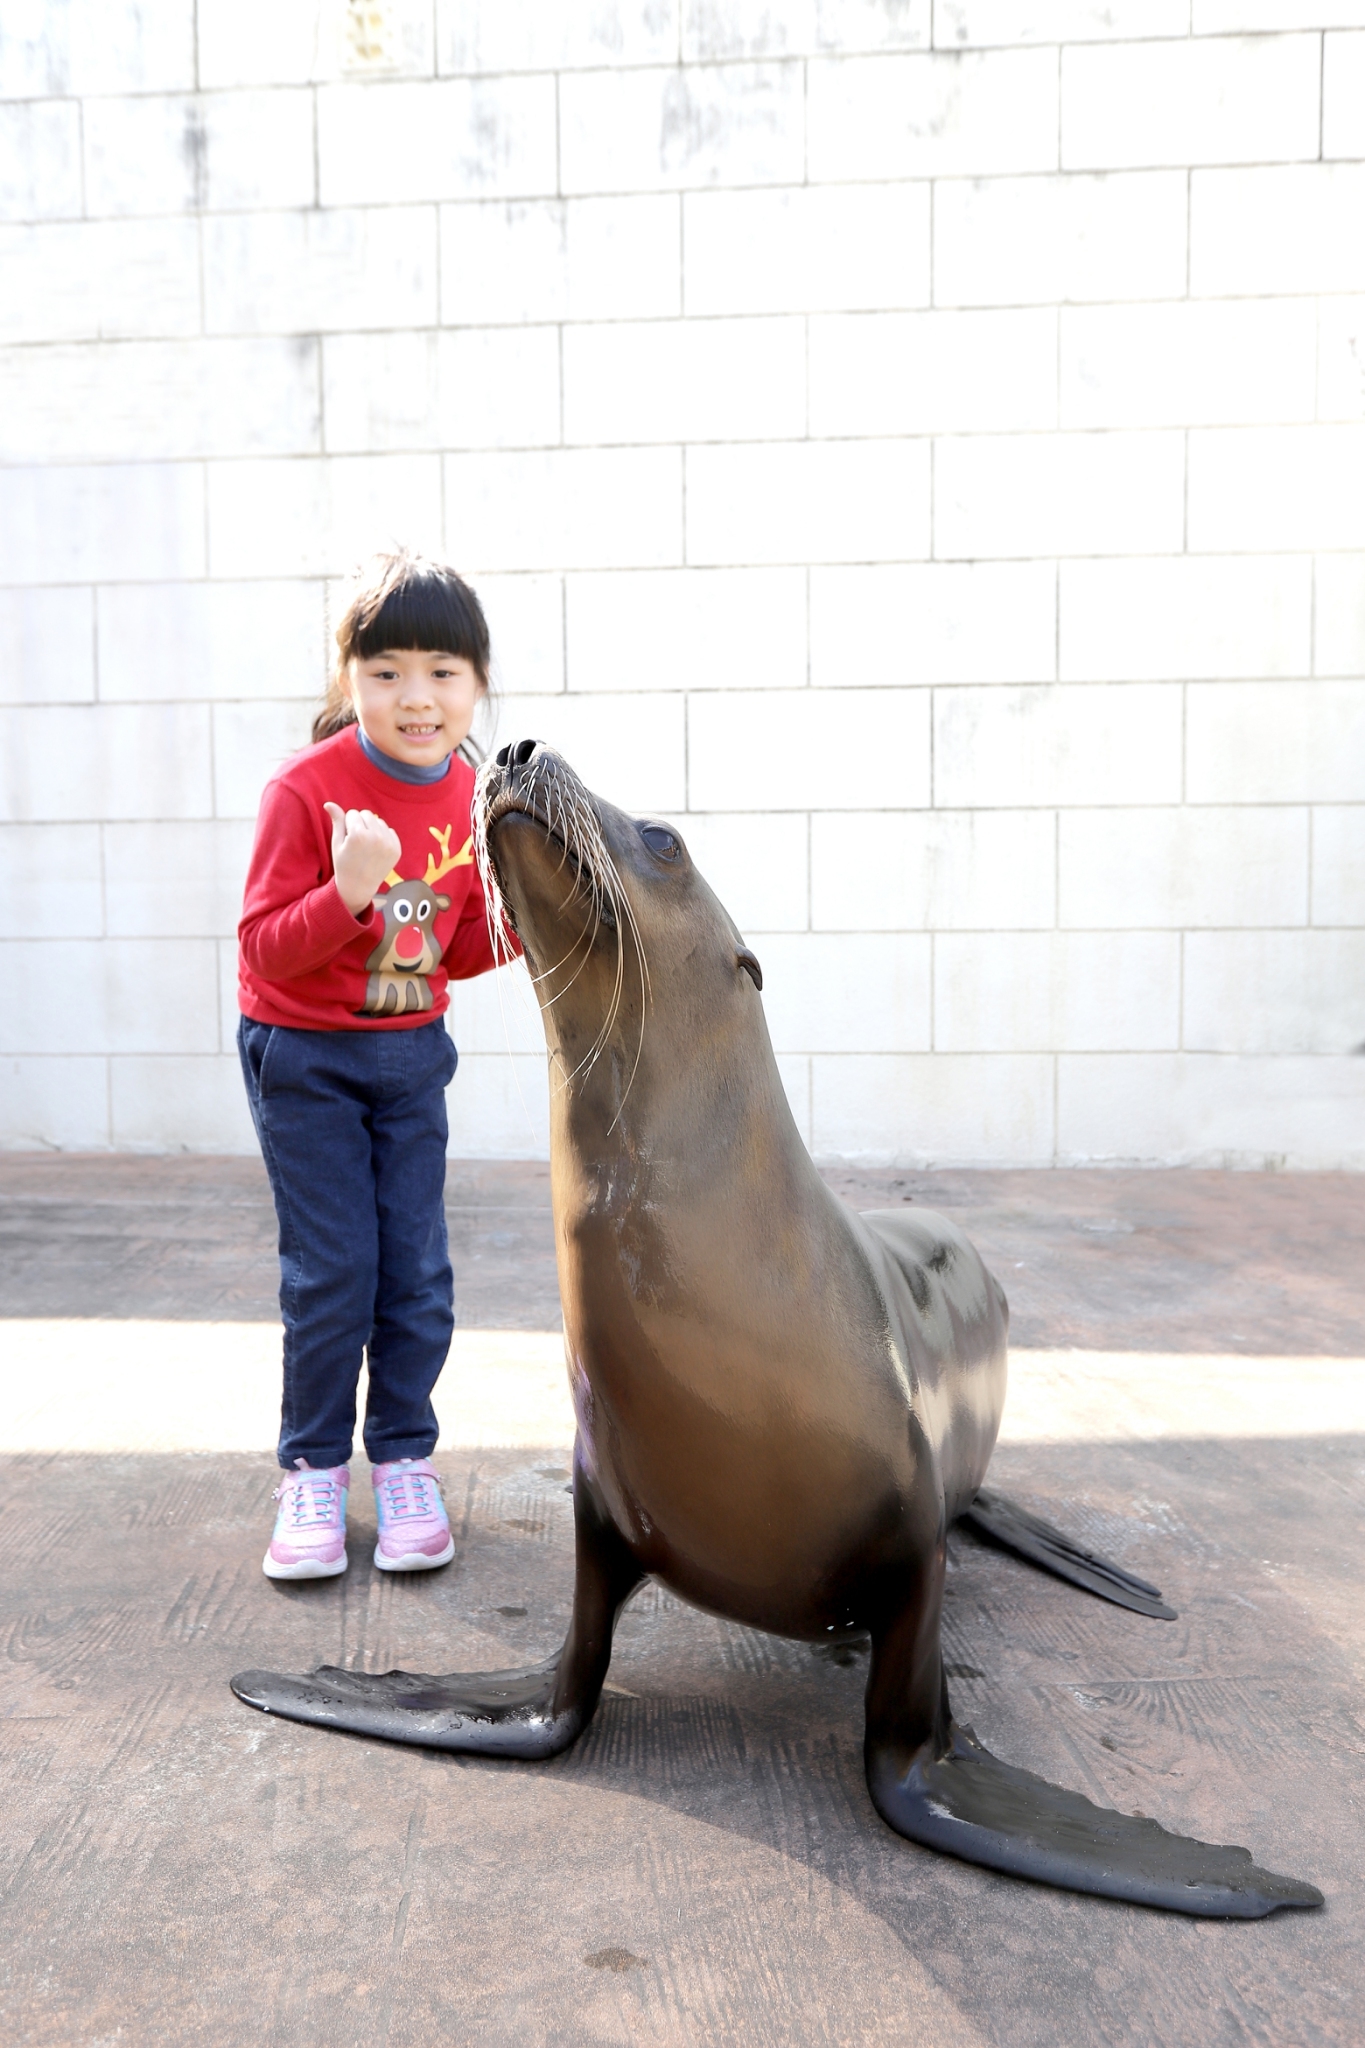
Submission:
[[358,936],[379,940],[383,918],[356,918],[336,887],[332,846],[299,791],[266,784],[246,877],[237,938],[262,981],[311,975]]

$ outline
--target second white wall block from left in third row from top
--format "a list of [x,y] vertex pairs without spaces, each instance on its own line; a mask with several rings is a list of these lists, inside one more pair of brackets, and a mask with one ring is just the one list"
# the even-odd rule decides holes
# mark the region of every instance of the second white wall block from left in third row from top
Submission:
[[436,324],[436,209],[327,207],[203,223],[209,334]]

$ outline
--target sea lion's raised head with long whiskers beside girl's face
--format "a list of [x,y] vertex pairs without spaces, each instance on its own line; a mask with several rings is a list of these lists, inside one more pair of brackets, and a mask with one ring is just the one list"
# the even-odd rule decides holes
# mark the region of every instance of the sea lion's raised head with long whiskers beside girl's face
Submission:
[[479,770],[475,858],[495,932],[505,920],[526,950],[565,1079],[606,1069],[624,1100],[649,1065],[651,1014],[667,1010],[673,1042],[686,1022],[700,1049],[759,1010],[759,963],[675,827],[596,797],[542,741]]

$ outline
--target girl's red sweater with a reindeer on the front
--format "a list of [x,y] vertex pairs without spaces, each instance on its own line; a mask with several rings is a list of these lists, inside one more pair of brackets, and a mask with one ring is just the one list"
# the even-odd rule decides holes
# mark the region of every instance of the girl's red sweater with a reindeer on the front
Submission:
[[[446,1010],[446,981],[495,967],[473,860],[473,770],[399,782],[348,725],[284,762],[260,799],[237,938],[241,1012],[301,1030],[411,1030]],[[403,852],[356,918],[332,872],[323,803],[375,811]],[[522,948],[508,934],[514,952]]]

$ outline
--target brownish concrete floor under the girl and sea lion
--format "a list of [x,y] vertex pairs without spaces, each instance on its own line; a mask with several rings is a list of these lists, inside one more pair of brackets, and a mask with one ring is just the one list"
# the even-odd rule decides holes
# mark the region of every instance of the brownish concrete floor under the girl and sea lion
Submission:
[[[569,1602],[563,1407],[518,1395],[514,1448],[463,1442],[454,1417],[458,1552],[420,1583],[368,1565],[360,1462],[352,1569],[303,1587],[260,1575],[264,1442],[100,1450],[143,1438],[80,1438],[74,1417],[80,1454],[4,1452],[0,1427],[6,2044],[1365,2038],[1365,1180],[831,1178],[860,1206],[950,1208],[976,1237],[1011,1294],[1025,1419],[1038,1358],[1078,1348],[1048,1382],[1052,1421],[1007,1417],[995,1483],[1181,1610],[1144,1622],[956,1538],[960,1718],[1093,1798],[1246,1843],[1318,1882],[1326,1911],[1181,1921],[915,1849],[864,1790],[866,1661],[653,1587],[598,1720],[548,1765],[252,1714],[225,1688],[241,1665],[548,1653]],[[544,1169],[454,1167],[450,1206],[483,1354],[448,1397],[487,1382],[489,1413],[512,1413],[505,1386],[530,1386],[516,1346],[542,1360],[557,1321]],[[225,1325],[246,1350],[274,1313],[252,1161],[10,1155],[0,1239],[10,1415],[57,1356],[33,1350],[51,1319],[74,1319],[63,1341],[135,1421],[166,1380],[121,1329],[145,1346],[170,1327],[192,1378],[223,1372]],[[485,1331],[508,1333],[505,1358]]]

